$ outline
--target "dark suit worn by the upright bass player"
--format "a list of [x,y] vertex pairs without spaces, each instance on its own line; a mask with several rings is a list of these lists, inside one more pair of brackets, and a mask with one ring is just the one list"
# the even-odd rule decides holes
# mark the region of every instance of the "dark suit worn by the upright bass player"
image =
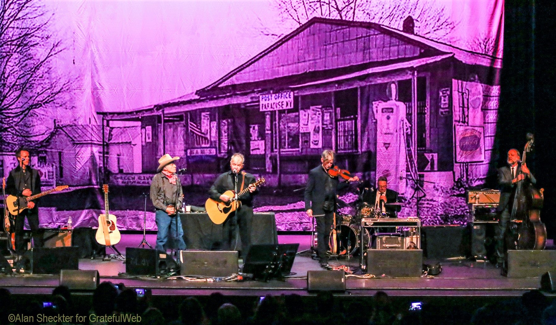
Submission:
[[[515,172],[515,177],[519,175],[519,168]],[[500,186],[500,203],[498,204],[498,227],[496,229],[496,254],[498,263],[505,260],[505,255],[508,250],[508,245],[511,245],[511,238],[508,238],[508,230],[510,224],[511,212],[513,208],[515,185],[512,184],[512,169],[509,166],[504,166],[498,169],[498,184]],[[525,177],[524,181],[535,184],[537,180],[533,174]]]

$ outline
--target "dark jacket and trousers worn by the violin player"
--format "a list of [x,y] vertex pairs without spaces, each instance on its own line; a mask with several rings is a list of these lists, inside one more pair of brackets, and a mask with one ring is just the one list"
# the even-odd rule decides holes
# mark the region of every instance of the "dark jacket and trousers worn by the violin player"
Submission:
[[[330,177],[322,165],[309,171],[309,180],[307,181],[307,187],[305,187],[305,211],[311,209],[313,215],[317,216],[315,217],[317,253],[320,262],[328,260],[326,248],[328,247],[334,211],[336,210],[337,191],[347,187],[347,185],[347,182],[340,182],[337,177]],[[332,207],[332,211],[322,209],[325,202]]]

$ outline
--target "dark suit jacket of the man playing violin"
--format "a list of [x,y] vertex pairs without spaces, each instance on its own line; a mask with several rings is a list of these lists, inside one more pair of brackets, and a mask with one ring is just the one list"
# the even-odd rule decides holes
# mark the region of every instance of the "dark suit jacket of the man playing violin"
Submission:
[[340,182],[338,177],[330,177],[322,165],[311,169],[305,187],[305,211],[311,209],[313,215],[322,215],[325,213],[322,210],[325,201],[331,201],[336,207],[336,194],[347,185],[348,182]]

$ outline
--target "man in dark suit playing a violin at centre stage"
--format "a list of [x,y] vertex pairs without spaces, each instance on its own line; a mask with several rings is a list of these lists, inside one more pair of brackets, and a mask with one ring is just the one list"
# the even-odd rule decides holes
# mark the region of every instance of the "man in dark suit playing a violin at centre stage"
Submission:
[[347,182],[340,182],[339,177],[331,177],[328,171],[334,165],[334,158],[334,151],[322,151],[321,165],[309,171],[305,187],[305,211],[309,217],[316,217],[317,255],[320,266],[324,268],[329,268],[326,247],[336,211],[337,191],[347,187],[348,182],[359,180],[359,177],[354,176],[349,177]]

